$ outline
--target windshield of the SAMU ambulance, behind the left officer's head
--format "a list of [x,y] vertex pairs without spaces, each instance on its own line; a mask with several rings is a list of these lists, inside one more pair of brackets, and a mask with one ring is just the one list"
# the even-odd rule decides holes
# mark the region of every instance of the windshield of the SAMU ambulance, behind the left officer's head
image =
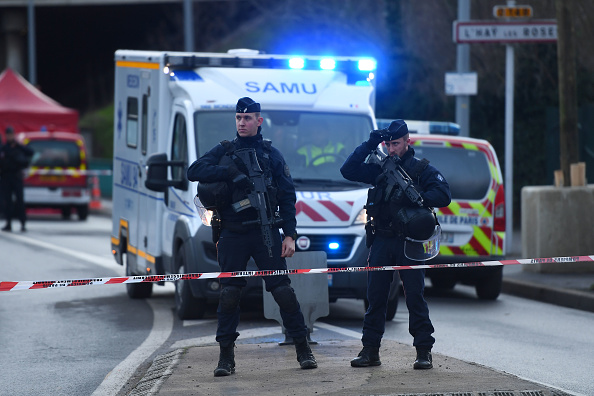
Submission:
[[[262,136],[281,151],[296,182],[342,185],[337,188],[345,188],[340,167],[373,129],[371,119],[365,115],[298,111],[261,114]],[[235,137],[234,113],[196,112],[194,118],[198,156],[221,140]]]

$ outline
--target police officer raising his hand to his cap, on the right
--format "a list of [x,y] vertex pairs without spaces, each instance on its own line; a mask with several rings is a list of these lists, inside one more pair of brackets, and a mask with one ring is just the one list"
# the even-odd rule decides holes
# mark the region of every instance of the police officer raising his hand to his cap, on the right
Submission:
[[[450,188],[444,177],[437,169],[425,161],[414,157],[415,151],[410,146],[408,128],[403,120],[392,121],[384,130],[372,131],[369,140],[363,142],[347,158],[342,168],[342,175],[348,179],[374,185],[374,193],[380,197],[377,218],[375,219],[375,238],[370,248],[368,265],[370,267],[389,265],[414,265],[404,255],[404,235],[401,225],[395,218],[399,208],[412,206],[406,194],[398,191],[389,194],[381,165],[365,162],[368,155],[385,141],[390,156],[398,156],[401,166],[411,176],[417,191],[423,198],[424,206],[445,207],[451,201]],[[393,192],[393,190],[390,190]],[[370,190],[371,192],[371,190]],[[386,195],[388,195],[386,197]],[[369,216],[369,209],[368,209]],[[390,283],[393,279],[391,271],[371,271],[367,274],[367,299],[369,308],[363,320],[363,349],[359,355],[351,360],[353,367],[379,366],[379,348],[384,334],[386,322],[386,308]],[[410,269],[399,271],[406,306],[409,311],[409,332],[414,338],[413,345],[417,356],[413,367],[415,369],[430,369],[433,367],[431,348],[435,339],[434,331],[429,319],[429,309],[423,297],[425,288],[425,271]]]

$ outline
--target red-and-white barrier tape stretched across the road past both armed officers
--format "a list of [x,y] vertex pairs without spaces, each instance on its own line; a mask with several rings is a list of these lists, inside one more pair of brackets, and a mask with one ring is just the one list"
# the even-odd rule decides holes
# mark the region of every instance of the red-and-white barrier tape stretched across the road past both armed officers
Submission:
[[366,272],[366,271],[400,271],[414,269],[437,269],[437,268],[471,268],[471,267],[496,267],[503,265],[521,264],[545,264],[545,263],[577,263],[594,261],[594,256],[568,256],[533,258],[501,261],[475,261],[468,263],[449,264],[420,264],[420,265],[395,265],[385,267],[339,267],[339,268],[311,268],[311,269],[286,269],[286,270],[256,270],[256,271],[235,271],[235,272],[203,272],[191,274],[170,274],[170,275],[142,275],[125,276],[113,278],[91,278],[74,280],[53,280],[53,281],[0,281],[0,291],[35,290],[49,289],[69,286],[91,286],[91,285],[117,285],[129,283],[150,283],[150,282],[175,282],[179,280],[197,279],[219,279],[219,278],[245,278],[254,276],[277,276],[297,274],[334,274],[342,272]]

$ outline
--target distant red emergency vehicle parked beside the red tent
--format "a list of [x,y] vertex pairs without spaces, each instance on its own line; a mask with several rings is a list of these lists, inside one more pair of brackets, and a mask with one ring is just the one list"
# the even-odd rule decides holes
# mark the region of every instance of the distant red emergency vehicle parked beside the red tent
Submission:
[[17,139],[34,154],[24,180],[27,208],[52,208],[67,219],[73,211],[79,220],[89,214],[87,151],[83,137],[72,132],[21,132]]

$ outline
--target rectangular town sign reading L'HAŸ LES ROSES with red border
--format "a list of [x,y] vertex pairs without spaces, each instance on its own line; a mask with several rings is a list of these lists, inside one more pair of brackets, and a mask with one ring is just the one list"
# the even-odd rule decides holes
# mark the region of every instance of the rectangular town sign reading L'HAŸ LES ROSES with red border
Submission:
[[557,41],[555,20],[517,22],[454,21],[455,43],[525,43]]

